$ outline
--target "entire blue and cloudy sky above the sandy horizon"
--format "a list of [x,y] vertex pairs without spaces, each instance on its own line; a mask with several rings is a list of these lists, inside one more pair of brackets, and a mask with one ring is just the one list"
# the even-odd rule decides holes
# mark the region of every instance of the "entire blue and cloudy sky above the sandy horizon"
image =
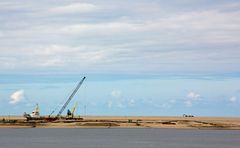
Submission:
[[2,115],[86,76],[81,115],[240,116],[238,0],[1,0],[0,21]]

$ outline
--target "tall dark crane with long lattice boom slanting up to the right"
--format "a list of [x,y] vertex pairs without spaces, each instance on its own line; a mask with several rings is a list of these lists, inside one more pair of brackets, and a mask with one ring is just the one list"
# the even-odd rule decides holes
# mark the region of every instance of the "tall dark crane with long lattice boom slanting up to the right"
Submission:
[[[49,120],[55,120],[57,118],[60,118],[62,112],[65,110],[65,108],[67,107],[67,105],[69,104],[69,102],[72,100],[72,98],[74,97],[74,95],[77,93],[78,89],[81,87],[83,81],[86,79],[86,77],[83,77],[82,80],[78,83],[78,85],[76,86],[76,88],[74,89],[74,91],[72,92],[72,94],[70,95],[70,97],[67,99],[67,101],[64,103],[64,105],[62,106],[62,108],[60,109],[60,111],[58,112],[57,116],[54,118],[51,118],[50,116],[55,112],[55,110],[52,111],[52,113],[49,115]],[[75,109],[74,109],[75,110]]]

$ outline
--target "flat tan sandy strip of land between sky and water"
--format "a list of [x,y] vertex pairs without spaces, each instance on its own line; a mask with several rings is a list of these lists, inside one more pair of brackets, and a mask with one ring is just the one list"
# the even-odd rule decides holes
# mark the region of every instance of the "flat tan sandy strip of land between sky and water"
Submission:
[[82,116],[83,120],[26,121],[21,116],[0,116],[0,128],[179,128],[240,129],[240,118],[162,116]]

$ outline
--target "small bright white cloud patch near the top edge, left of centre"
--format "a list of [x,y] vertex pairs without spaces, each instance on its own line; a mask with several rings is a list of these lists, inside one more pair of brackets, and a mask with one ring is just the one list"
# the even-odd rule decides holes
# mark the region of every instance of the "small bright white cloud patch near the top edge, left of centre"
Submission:
[[87,13],[97,10],[97,6],[90,3],[73,3],[65,6],[52,8],[50,13],[66,14],[66,13]]

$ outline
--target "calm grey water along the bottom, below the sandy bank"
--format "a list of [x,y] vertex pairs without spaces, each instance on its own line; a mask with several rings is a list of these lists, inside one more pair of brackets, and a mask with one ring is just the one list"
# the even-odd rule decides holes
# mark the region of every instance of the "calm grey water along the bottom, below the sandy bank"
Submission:
[[0,148],[239,147],[239,130],[0,129]]

